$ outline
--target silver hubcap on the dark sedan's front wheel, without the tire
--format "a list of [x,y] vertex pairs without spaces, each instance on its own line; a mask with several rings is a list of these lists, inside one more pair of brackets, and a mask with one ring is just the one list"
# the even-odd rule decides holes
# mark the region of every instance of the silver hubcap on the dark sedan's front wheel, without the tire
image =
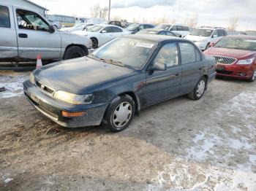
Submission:
[[129,104],[129,102],[124,101],[116,107],[113,113],[113,125],[115,125],[116,128],[122,128],[124,125],[127,125],[131,117],[132,106]]

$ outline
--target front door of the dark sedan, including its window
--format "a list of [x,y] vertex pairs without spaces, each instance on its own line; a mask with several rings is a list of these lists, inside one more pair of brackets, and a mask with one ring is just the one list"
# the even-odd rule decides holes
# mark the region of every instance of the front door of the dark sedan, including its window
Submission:
[[162,46],[154,63],[165,63],[165,71],[152,71],[146,73],[146,106],[173,98],[179,93],[181,84],[181,66],[178,61],[178,48],[176,42]]

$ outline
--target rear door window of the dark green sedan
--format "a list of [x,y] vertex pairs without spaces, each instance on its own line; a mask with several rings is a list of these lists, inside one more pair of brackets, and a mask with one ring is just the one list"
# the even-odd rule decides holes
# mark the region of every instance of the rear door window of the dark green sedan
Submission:
[[187,42],[180,42],[181,64],[193,63],[196,61],[195,47]]

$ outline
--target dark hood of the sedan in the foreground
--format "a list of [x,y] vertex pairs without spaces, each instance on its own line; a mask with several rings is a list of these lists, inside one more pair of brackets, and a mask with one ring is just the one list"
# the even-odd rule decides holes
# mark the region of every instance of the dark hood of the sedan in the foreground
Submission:
[[133,69],[83,57],[52,63],[34,71],[35,79],[53,90],[83,94],[101,82],[131,74]]

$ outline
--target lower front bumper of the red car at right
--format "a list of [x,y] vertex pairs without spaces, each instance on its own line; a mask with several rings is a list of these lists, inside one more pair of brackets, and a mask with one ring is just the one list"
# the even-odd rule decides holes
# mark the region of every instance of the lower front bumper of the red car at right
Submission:
[[250,79],[254,73],[252,65],[217,64],[218,77],[232,77],[236,79]]

